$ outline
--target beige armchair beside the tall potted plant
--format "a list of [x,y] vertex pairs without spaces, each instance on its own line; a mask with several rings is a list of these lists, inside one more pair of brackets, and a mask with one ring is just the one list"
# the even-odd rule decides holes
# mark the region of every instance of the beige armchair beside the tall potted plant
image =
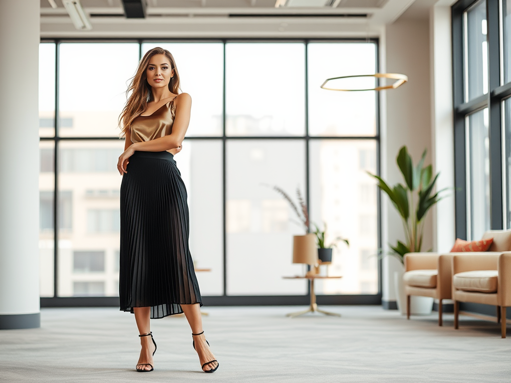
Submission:
[[451,299],[452,255],[436,253],[405,254],[403,282],[406,318],[410,319],[410,296],[438,299],[438,326],[442,326],[442,300]]

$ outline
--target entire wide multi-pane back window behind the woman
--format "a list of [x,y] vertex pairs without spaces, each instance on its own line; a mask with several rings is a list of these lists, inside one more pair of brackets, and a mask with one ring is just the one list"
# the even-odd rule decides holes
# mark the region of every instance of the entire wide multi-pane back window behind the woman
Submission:
[[375,294],[378,301],[378,199],[366,174],[378,169],[377,95],[320,89],[328,77],[375,73],[374,41],[40,46],[41,296],[118,295],[118,117],[141,55],[160,46],[173,54],[180,90],[192,97],[175,160],[202,295],[229,304],[240,296],[308,294],[305,280],[283,279],[306,271],[292,264],[292,237],[305,230],[276,185],[295,202],[299,188],[312,222],[327,223],[329,238],[350,240],[350,248],[339,244],[328,270],[343,278],[318,283],[317,293]]

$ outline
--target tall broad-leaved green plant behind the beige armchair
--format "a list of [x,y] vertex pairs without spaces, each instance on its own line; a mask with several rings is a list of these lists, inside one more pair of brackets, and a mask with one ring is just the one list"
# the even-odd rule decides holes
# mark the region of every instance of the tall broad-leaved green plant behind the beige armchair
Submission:
[[426,153],[427,150],[422,154],[419,163],[414,166],[406,146],[400,149],[396,162],[403,174],[404,185],[397,183],[390,187],[381,177],[368,172],[370,176],[378,180],[378,186],[387,194],[403,221],[406,243],[398,241],[396,246],[389,245],[392,249],[391,254],[397,256],[402,263],[406,253],[421,251],[423,221],[426,213],[434,204],[442,200],[440,193],[446,190],[442,189],[433,194],[439,173],[433,177],[433,167],[424,166]]

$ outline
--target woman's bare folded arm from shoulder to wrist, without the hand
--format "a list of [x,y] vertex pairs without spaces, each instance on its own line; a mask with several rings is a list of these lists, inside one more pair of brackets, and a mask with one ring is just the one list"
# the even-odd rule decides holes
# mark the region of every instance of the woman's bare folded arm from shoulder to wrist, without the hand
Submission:
[[135,142],[131,146],[133,150],[141,152],[162,152],[181,146],[184,134],[188,129],[188,124],[190,124],[192,98],[188,93],[181,93],[176,97],[174,102],[176,105],[176,117],[172,125],[172,133],[149,141]]

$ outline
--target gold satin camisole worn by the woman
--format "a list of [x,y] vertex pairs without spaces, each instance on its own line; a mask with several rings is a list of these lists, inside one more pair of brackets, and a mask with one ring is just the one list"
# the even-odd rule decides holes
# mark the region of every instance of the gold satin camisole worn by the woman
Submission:
[[175,99],[174,97],[168,103],[163,104],[152,114],[135,117],[131,123],[131,142],[150,141],[172,133],[176,108]]

